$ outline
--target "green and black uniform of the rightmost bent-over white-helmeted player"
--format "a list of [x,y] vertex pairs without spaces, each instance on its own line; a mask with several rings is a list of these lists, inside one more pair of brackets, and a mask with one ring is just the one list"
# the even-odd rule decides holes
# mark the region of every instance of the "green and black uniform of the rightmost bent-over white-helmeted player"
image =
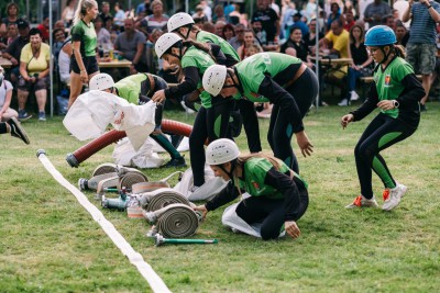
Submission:
[[290,146],[294,133],[304,131],[302,117],[318,94],[318,79],[309,68],[297,77],[302,61],[280,53],[258,53],[237,64],[238,94],[233,98],[274,104],[267,140],[275,157],[295,172],[298,162]]

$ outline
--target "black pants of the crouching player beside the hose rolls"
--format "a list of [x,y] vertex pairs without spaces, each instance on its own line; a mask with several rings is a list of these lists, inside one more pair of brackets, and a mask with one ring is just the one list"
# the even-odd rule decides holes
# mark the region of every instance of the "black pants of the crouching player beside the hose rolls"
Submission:
[[[309,195],[307,189],[300,189],[300,213],[298,218],[293,221],[298,221],[306,212],[309,205]],[[237,215],[240,216],[249,225],[254,223],[262,223],[261,236],[264,240],[276,239],[282,232],[285,217],[285,200],[271,200],[265,196],[251,196],[243,200],[237,206]]]

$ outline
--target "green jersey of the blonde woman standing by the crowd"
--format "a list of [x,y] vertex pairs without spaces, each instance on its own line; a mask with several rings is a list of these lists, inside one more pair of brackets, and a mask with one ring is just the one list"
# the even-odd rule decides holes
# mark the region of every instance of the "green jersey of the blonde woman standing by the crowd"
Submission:
[[81,56],[90,57],[96,56],[97,48],[97,34],[95,32],[95,25],[92,22],[87,25],[82,20],[74,25],[70,30],[72,43],[80,42],[81,46],[79,52]]

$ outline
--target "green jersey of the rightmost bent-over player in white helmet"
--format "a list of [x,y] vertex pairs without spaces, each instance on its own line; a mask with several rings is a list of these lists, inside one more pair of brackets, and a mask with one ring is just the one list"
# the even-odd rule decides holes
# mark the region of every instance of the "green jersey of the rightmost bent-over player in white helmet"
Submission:
[[[239,100],[244,97],[252,102],[268,102],[270,100],[266,97],[258,94],[263,80],[267,76],[275,78],[278,74],[287,69],[287,67],[300,65],[301,63],[301,59],[280,53],[267,52],[252,55],[235,65],[243,92],[237,93],[233,95],[233,99]],[[294,77],[285,77],[285,83],[292,78]],[[279,86],[283,87],[284,84]]]

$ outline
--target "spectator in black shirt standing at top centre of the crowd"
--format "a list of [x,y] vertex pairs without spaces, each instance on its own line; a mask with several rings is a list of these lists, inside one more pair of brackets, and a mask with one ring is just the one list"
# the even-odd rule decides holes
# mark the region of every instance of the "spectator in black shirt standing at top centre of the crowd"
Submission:
[[270,0],[257,0],[257,10],[252,15],[252,22],[260,21],[266,33],[266,42],[277,42],[279,35],[279,18],[270,7]]

